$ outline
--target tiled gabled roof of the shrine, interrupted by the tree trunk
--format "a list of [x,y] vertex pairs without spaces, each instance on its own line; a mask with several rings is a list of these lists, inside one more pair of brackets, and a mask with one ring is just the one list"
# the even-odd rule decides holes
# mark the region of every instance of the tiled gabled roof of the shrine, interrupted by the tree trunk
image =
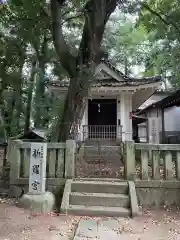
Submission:
[[[109,60],[102,59],[101,64],[104,64],[114,73],[118,74],[119,79],[117,80],[115,77],[110,76],[110,73],[107,73],[105,69],[101,69],[102,75],[106,73],[104,78],[98,79],[96,78],[93,80],[92,87],[124,87],[124,86],[139,86],[145,84],[152,84],[161,82],[161,76],[154,76],[154,77],[142,77],[142,78],[134,78],[127,76],[126,74],[119,71]],[[60,88],[67,88],[69,86],[69,81],[49,81],[47,85],[60,87]]]

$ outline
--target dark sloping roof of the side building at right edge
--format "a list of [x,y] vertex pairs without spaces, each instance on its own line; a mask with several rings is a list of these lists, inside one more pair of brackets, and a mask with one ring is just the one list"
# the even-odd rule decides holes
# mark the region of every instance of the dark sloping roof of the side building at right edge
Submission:
[[180,90],[177,90],[176,92],[171,93],[171,95],[169,95],[166,98],[163,98],[162,100],[153,103],[151,105],[149,105],[148,107],[140,110],[137,114],[141,115],[146,113],[148,110],[155,108],[155,107],[159,107],[159,108],[168,108],[168,107],[173,107],[173,106],[178,106],[180,105]]

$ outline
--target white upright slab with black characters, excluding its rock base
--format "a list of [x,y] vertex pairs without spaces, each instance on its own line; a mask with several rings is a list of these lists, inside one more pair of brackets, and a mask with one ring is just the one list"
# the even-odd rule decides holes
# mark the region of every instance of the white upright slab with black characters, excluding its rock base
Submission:
[[45,192],[47,143],[32,143],[29,171],[29,192]]

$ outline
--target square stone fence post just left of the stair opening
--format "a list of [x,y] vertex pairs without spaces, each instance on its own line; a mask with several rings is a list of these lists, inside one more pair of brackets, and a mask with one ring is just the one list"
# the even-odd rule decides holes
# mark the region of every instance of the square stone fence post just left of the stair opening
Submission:
[[75,151],[76,142],[74,140],[66,140],[65,178],[75,177]]

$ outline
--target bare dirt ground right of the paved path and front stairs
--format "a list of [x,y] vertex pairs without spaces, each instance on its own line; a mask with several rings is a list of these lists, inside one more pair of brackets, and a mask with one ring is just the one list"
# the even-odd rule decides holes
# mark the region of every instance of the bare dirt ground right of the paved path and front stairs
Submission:
[[180,240],[180,210],[141,210],[134,219],[118,219],[122,240]]

